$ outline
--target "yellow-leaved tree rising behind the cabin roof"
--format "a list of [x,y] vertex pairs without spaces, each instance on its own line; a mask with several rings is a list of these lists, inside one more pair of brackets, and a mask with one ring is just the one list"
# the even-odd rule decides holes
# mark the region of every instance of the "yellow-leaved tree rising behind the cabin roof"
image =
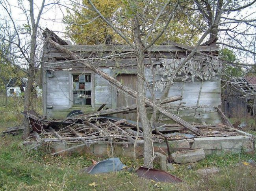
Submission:
[[[130,37],[130,40],[133,38],[131,18],[134,18],[134,7],[139,7],[136,11],[139,12],[144,22],[144,25],[141,25],[142,40],[144,38],[152,40],[155,36],[146,37],[145,34],[147,34],[150,24],[154,22],[165,2],[165,0],[145,0],[139,1],[135,5],[134,1],[131,0],[93,0],[100,13],[118,26],[122,33]],[[172,2],[175,3],[174,1],[166,2],[165,10],[158,18],[152,33],[160,32],[167,22],[170,9],[173,7]],[[131,6],[133,3],[134,6]],[[201,30],[192,23],[198,23],[198,26],[202,26],[202,16],[196,17],[193,14],[190,2],[184,2],[182,6],[186,7],[186,10],[177,11],[174,19],[171,20],[165,33],[157,40],[156,44],[171,40],[176,43],[193,45],[198,40],[198,34],[201,33]],[[87,0],[83,0],[82,5],[74,5],[72,13],[68,10],[65,22],[67,35],[76,44],[105,44],[109,36],[115,44],[125,43],[106,22],[99,18]]]

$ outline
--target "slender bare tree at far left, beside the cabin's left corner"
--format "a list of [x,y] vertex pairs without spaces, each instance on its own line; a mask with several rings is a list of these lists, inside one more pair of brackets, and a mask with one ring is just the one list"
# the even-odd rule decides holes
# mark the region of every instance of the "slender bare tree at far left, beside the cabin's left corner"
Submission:
[[[4,42],[8,42],[13,46],[13,51],[9,51],[5,55],[5,58],[9,60],[13,65],[26,72],[28,75],[28,82],[26,84],[25,95],[24,95],[24,110],[28,111],[31,106],[31,92],[33,88],[33,82],[35,81],[35,73],[40,65],[38,62],[38,26],[39,20],[45,7],[45,0],[42,0],[41,7],[34,7],[35,3],[33,0],[29,0],[28,4],[22,4],[17,2],[17,5],[11,5],[7,0],[0,2],[1,8],[5,11],[5,15],[2,15],[10,24],[6,26],[11,28],[14,33],[14,38],[6,38],[4,27],[1,30],[1,37]],[[26,18],[26,24],[22,26],[15,21],[12,16],[13,7],[22,11],[24,18]],[[37,15],[35,15],[37,13]],[[16,61],[15,61],[16,60]],[[20,62],[19,62],[19,61]],[[19,63],[18,63],[19,62]],[[30,135],[30,127],[28,118],[24,118],[24,131],[23,139]]]

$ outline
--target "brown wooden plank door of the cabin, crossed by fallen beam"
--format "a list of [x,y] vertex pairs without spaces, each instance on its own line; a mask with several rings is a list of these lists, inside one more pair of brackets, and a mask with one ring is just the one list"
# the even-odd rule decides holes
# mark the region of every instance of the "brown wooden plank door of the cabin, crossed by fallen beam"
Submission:
[[[133,90],[137,91],[136,83],[137,83],[137,76],[135,74],[121,74],[117,76],[117,80],[121,82],[123,85],[126,85]],[[131,106],[136,104],[136,100],[121,91],[117,92],[117,107],[121,106]],[[137,121],[137,112],[130,113],[130,114],[117,114],[117,117],[126,118],[127,120]]]

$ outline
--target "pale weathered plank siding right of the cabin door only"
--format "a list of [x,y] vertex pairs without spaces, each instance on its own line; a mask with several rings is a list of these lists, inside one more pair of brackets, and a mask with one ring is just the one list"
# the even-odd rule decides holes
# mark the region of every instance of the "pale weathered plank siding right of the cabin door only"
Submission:
[[[147,80],[149,82],[152,82],[152,76],[150,76],[150,71],[146,70],[145,75],[147,75]],[[155,80],[160,80],[161,77],[162,76],[156,76]],[[168,95],[166,95],[165,97],[182,95],[182,100],[173,102],[172,104],[186,102],[184,106],[193,107],[193,109],[174,108],[170,109],[170,111],[172,111],[172,113],[174,113],[175,115],[180,116],[187,122],[191,123],[194,122],[202,124],[202,118],[206,124],[220,123],[221,116],[214,108],[221,106],[221,81],[219,79],[220,76],[215,76],[215,78],[211,78],[210,80],[195,82],[175,82],[170,87]],[[156,98],[160,98],[162,92],[160,90],[157,90],[154,92],[154,94]],[[147,90],[146,96],[148,98],[152,98],[150,91]],[[197,114],[192,115],[193,113]],[[170,122],[170,120],[165,119],[165,116],[159,116],[159,122]]]

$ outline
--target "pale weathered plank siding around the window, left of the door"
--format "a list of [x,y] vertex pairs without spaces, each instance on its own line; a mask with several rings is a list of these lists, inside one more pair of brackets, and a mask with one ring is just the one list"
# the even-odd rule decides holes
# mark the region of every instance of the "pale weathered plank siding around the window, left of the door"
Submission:
[[[113,75],[111,69],[102,68],[102,71]],[[75,73],[83,73],[84,70],[76,70]],[[75,109],[80,109],[86,113],[95,111],[102,104],[106,107],[112,107],[112,87],[100,75],[94,75],[95,84],[95,108],[91,106],[72,107],[72,85],[70,84],[70,77],[74,73],[72,70],[54,71],[53,77],[46,76],[44,78],[45,86],[45,113],[50,118],[65,118],[67,114]]]

